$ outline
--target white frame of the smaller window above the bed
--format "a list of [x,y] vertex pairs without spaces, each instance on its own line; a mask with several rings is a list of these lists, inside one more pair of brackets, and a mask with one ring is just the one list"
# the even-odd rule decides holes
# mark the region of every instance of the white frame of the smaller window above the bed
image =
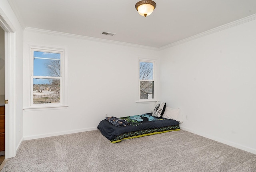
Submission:
[[[153,63],[153,79],[152,80],[140,80],[140,62],[147,62],[147,63]],[[137,102],[156,102],[156,96],[157,96],[157,69],[156,69],[156,60],[150,60],[150,59],[139,59],[138,62],[138,101]],[[140,81],[153,81],[154,82],[154,88],[153,88],[153,95],[154,98],[148,98],[148,99],[140,99]]]

